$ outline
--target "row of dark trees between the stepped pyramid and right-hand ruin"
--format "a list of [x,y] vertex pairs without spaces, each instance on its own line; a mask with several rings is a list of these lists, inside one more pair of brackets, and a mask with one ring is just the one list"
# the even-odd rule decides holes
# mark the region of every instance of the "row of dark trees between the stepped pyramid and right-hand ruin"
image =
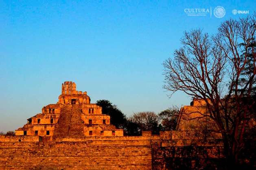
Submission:
[[[109,100],[98,100],[102,113],[110,116],[110,123],[124,130],[124,135],[140,136],[143,130],[159,134],[160,130],[175,130],[179,108],[173,107],[162,111],[159,115],[154,112],[139,112],[127,119],[124,113]],[[161,122],[161,123],[160,123]]]

